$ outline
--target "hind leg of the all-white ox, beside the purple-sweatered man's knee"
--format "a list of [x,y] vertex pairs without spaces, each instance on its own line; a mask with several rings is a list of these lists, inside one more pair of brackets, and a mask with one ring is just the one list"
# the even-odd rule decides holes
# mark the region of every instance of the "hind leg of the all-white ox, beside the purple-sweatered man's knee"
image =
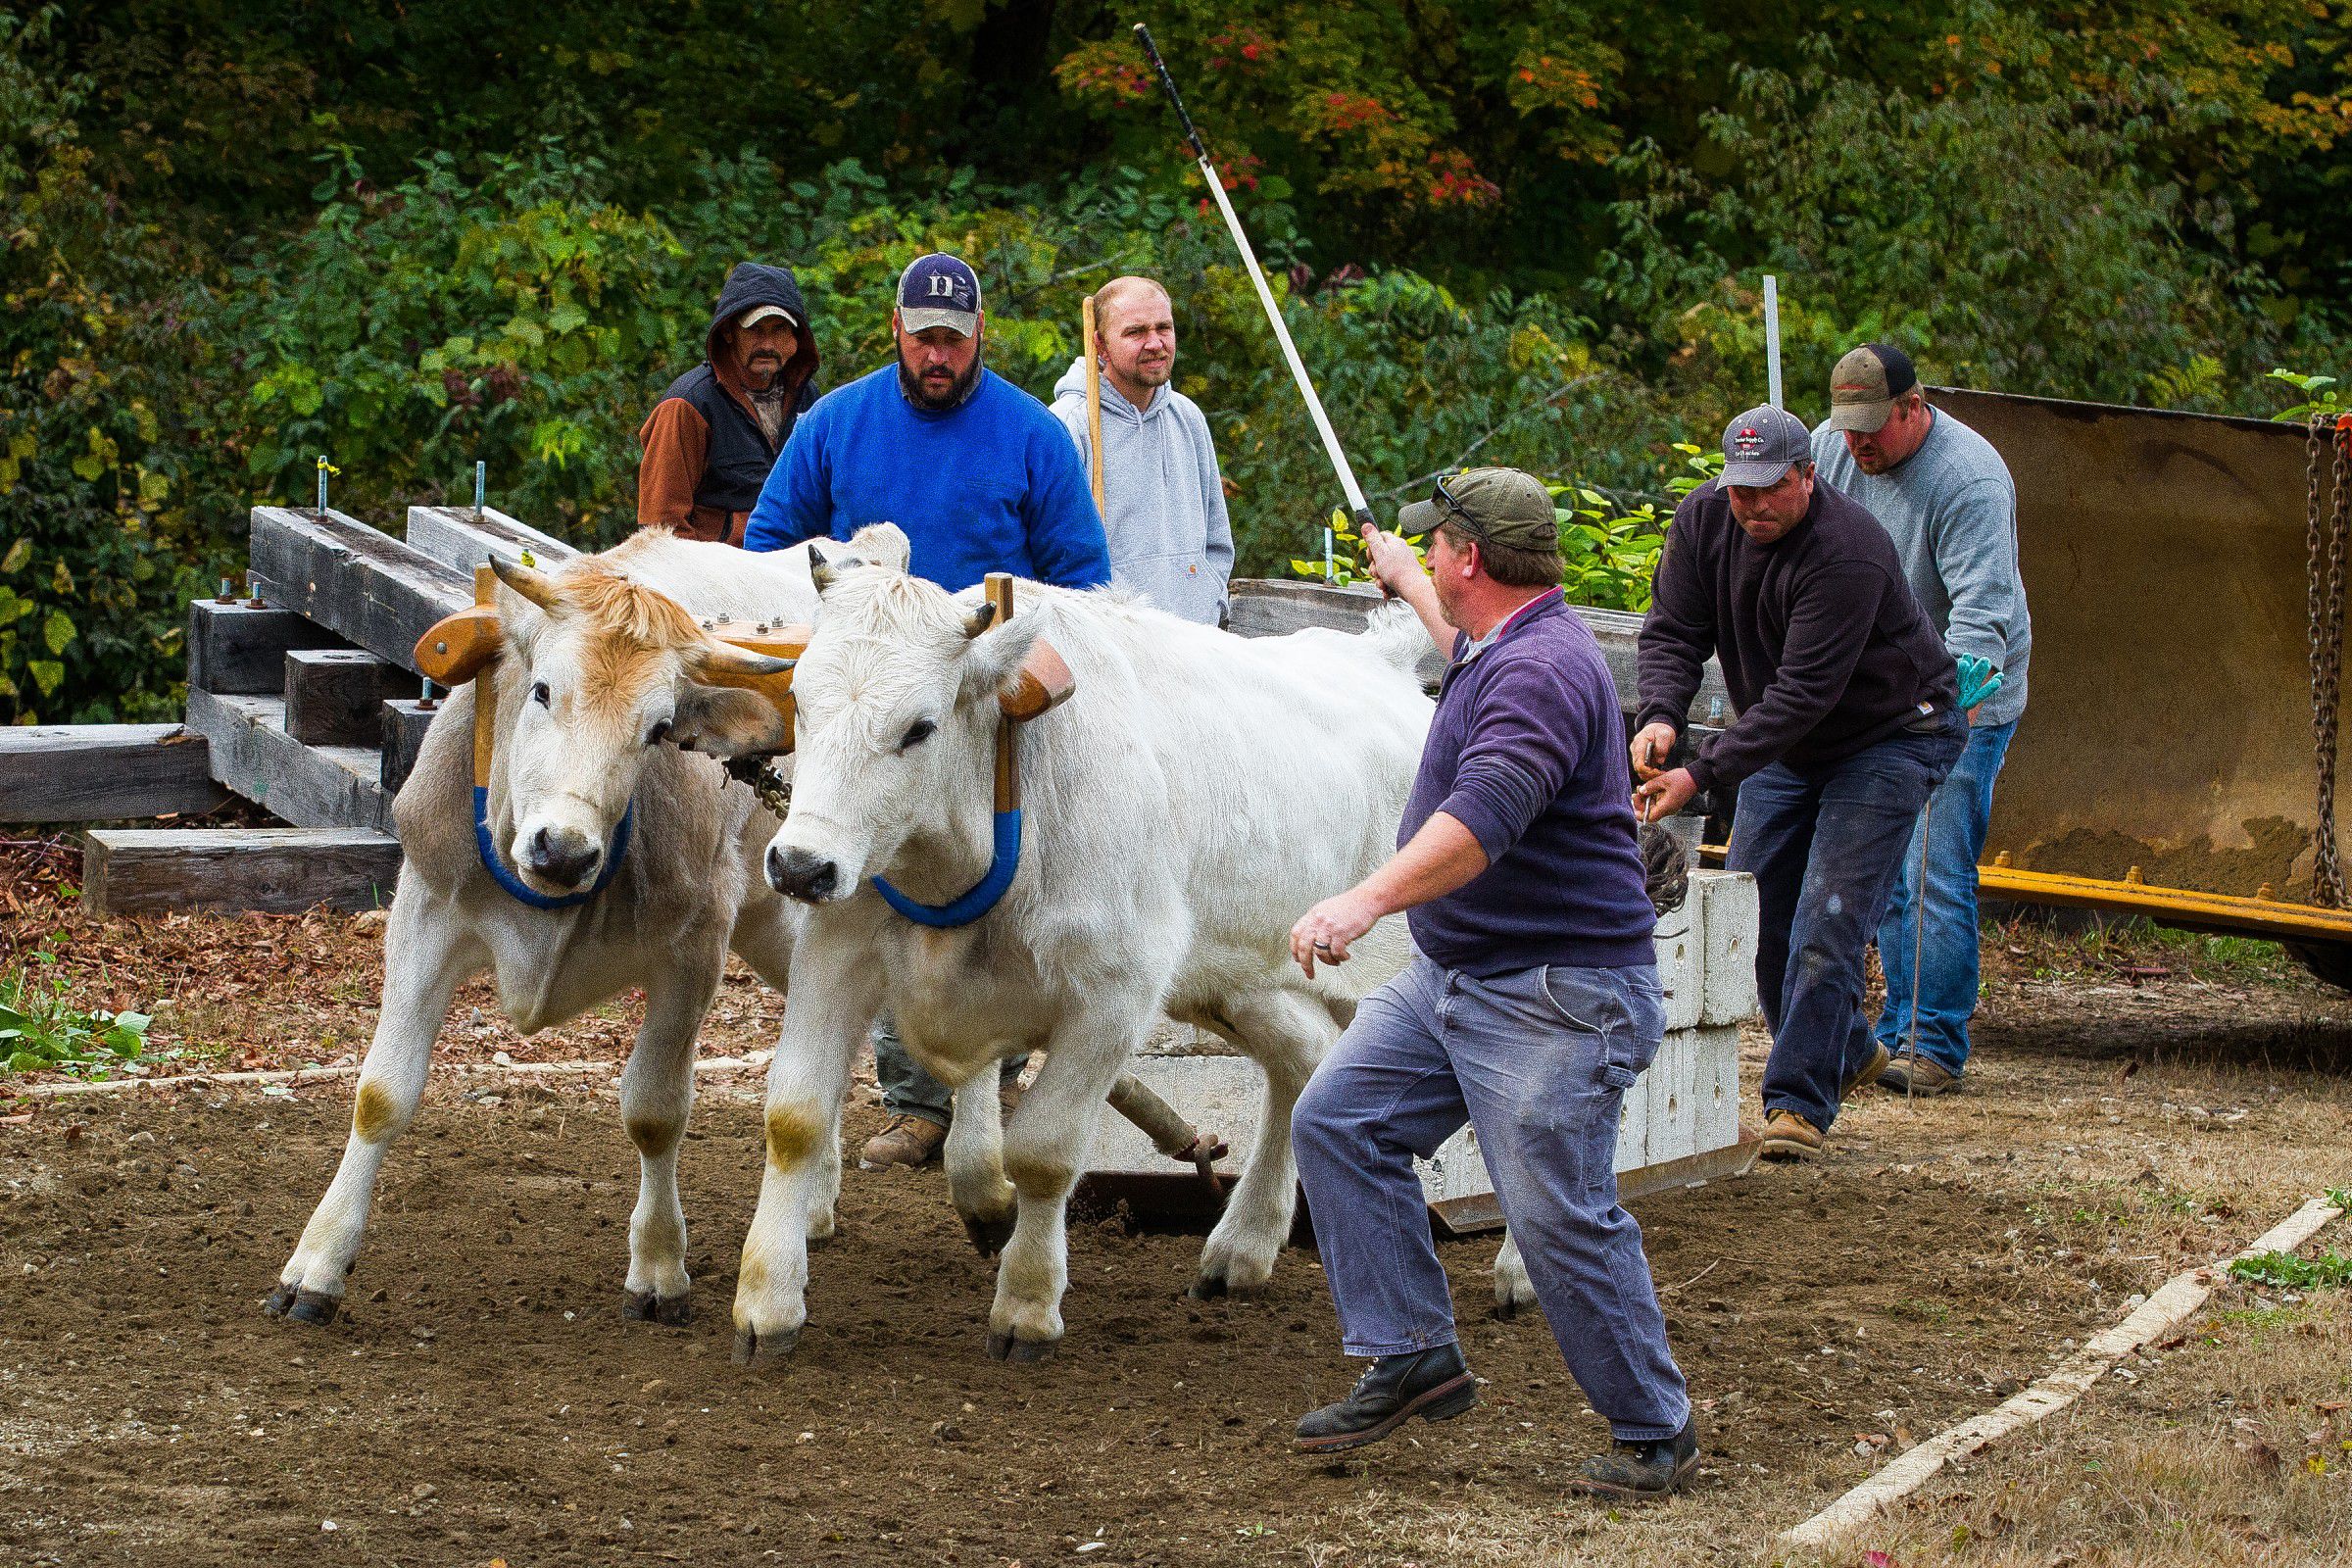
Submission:
[[1338,1039],[1331,1011],[1298,992],[1237,999],[1209,1027],[1265,1070],[1265,1100],[1258,1107],[1258,1131],[1242,1180],[1232,1185],[1225,1213],[1200,1251],[1200,1274],[1188,1291],[1195,1300],[1247,1295],[1275,1276],[1275,1258],[1291,1237],[1291,1215],[1298,1206],[1291,1107],[1298,1105],[1315,1063]]

